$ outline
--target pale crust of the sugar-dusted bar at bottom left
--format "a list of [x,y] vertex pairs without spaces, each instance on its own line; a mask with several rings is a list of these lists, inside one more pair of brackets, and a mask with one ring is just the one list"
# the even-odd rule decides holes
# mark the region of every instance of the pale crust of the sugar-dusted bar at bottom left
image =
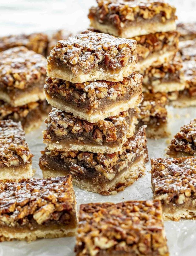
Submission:
[[0,227],[0,240],[26,240],[28,242],[34,241],[38,238],[58,238],[71,237],[76,235],[76,228],[66,228],[60,226],[59,228],[40,227],[36,230],[30,228],[14,229],[14,227]]

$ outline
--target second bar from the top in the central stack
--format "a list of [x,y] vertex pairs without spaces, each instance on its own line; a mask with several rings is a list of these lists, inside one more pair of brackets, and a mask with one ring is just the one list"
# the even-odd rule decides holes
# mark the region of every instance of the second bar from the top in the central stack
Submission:
[[44,90],[52,106],[96,123],[138,106],[143,99],[142,81],[142,75],[135,72],[122,82],[70,83],[48,77]]

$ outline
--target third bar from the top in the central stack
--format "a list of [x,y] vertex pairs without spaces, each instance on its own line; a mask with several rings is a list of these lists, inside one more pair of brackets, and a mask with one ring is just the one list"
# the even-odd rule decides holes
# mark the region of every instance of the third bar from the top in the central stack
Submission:
[[139,108],[129,109],[118,116],[89,123],[53,108],[45,120],[44,143],[49,150],[114,153],[134,135],[138,112]]

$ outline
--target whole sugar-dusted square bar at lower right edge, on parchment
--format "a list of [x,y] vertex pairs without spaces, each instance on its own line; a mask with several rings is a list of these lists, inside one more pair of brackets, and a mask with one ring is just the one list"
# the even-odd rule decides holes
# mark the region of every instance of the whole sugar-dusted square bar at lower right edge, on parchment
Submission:
[[151,159],[152,190],[164,219],[196,217],[196,156]]

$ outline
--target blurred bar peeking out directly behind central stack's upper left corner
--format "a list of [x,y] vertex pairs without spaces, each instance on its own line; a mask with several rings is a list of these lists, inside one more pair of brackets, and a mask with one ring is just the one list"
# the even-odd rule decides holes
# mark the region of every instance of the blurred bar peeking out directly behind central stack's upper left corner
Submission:
[[70,36],[72,36],[72,33],[65,29],[57,30],[51,36],[49,36],[47,56],[50,55],[50,52],[55,47],[57,41],[62,40],[62,39],[67,40]]

